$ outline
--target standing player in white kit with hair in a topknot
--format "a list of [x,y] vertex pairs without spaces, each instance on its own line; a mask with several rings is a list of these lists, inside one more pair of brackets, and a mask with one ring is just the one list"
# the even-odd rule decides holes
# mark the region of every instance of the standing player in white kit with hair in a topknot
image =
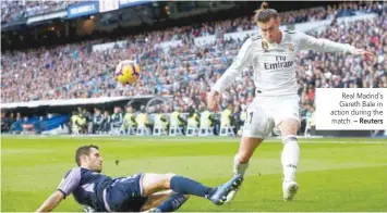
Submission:
[[[300,127],[300,98],[295,78],[297,52],[313,49],[361,54],[365,59],[371,59],[373,54],[350,45],[317,39],[301,32],[281,30],[277,11],[268,9],[266,2],[256,11],[255,21],[261,35],[252,36],[243,43],[234,62],[213,87],[207,102],[209,110],[215,110],[219,95],[232,84],[243,68],[253,65],[256,96],[246,110],[247,118],[243,126],[239,151],[234,156],[233,173],[244,176],[254,150],[269,136],[274,127],[278,127],[283,143],[281,153],[285,176],[283,199],[290,201],[299,190],[295,183],[300,154],[297,139]],[[235,192],[237,190],[228,197],[228,202]]]

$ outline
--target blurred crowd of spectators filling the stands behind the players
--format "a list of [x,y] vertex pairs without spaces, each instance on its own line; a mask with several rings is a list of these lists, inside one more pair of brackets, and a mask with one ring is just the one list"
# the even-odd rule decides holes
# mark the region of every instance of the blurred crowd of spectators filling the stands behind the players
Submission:
[[[1,8],[2,18],[15,20],[25,13],[41,13],[74,1],[50,1],[48,4],[43,1],[5,2]],[[348,25],[336,22],[337,17],[354,15],[358,11],[377,13],[378,16]],[[346,2],[338,7],[280,14],[282,24],[329,18],[332,21],[330,27],[309,34],[365,48],[376,55],[374,61],[365,62],[362,58],[341,53],[301,52],[297,64],[302,116],[311,116],[314,111],[315,88],[387,88],[386,14],[385,2]],[[1,101],[161,95],[173,96],[173,100],[162,108],[154,105],[147,113],[168,113],[177,109],[182,113],[203,112],[207,91],[232,63],[243,43],[240,39],[221,39],[222,35],[247,29],[257,28],[251,17],[240,17],[129,36],[122,38],[128,41],[124,47],[105,51],[93,51],[92,47],[113,40],[87,40],[55,48],[5,52],[1,58]],[[194,38],[207,35],[216,35],[219,39],[195,46]],[[182,39],[182,45],[167,52],[159,46],[177,39]],[[114,79],[113,68],[125,59],[140,63],[142,78],[133,86],[122,87]],[[252,71],[246,68],[222,95],[220,109],[231,104],[232,111],[242,112],[253,98]]]

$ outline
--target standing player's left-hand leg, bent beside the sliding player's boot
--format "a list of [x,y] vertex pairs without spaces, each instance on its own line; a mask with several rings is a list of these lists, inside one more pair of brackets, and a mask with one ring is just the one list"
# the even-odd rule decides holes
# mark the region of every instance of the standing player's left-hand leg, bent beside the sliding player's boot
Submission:
[[235,177],[241,177],[241,181],[238,181],[238,185],[229,193],[226,199],[226,203],[230,202],[235,197],[237,191],[242,185],[244,174],[249,167],[249,161],[253,155],[254,150],[261,145],[262,141],[263,139],[261,138],[242,137],[239,151],[238,154],[234,156],[233,163],[233,174]]

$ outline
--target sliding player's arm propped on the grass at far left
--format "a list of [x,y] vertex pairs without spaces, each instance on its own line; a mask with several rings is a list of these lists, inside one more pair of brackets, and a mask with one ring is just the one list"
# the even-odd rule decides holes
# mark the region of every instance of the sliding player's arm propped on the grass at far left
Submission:
[[59,184],[58,190],[53,192],[36,212],[50,212],[65,199],[81,183],[81,168],[76,167],[68,172],[62,181]]

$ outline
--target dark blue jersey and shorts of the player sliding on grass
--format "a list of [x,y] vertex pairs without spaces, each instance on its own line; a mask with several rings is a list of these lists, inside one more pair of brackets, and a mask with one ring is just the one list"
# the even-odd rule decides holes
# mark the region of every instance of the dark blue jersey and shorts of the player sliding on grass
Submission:
[[137,212],[144,205],[142,174],[112,179],[83,167],[68,172],[58,190],[72,193],[86,212]]

